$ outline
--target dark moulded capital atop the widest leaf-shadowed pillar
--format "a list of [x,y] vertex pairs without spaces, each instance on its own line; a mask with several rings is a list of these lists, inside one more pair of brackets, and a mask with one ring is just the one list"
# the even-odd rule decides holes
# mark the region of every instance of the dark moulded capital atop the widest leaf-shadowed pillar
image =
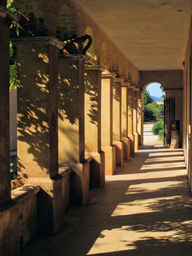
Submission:
[[11,40],[12,40],[12,43],[15,45],[45,44],[45,45],[54,45],[58,47],[58,49],[63,49],[63,46],[65,46],[65,43],[58,40],[58,38],[54,36],[31,36],[31,37],[17,36],[17,37],[11,38]]

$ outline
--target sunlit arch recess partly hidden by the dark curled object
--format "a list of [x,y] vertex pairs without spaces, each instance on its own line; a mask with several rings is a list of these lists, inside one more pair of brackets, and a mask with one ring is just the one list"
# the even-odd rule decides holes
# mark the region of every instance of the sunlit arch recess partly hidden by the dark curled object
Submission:
[[[90,63],[92,65],[97,64],[97,49],[96,49],[96,46],[95,46],[95,39],[94,39],[94,36],[93,36],[92,29],[90,27],[86,28],[85,34],[90,35],[92,37],[92,45],[88,49],[88,51],[86,52],[86,55],[90,59]],[[86,45],[87,45],[87,40],[84,42],[83,47],[86,47]]]

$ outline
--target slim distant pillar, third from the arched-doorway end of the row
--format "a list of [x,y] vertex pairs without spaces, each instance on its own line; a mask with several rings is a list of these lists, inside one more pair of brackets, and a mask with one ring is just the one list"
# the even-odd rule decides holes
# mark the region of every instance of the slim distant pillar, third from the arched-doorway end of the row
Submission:
[[130,154],[134,154],[134,134],[133,134],[133,89],[135,86],[127,87],[127,107],[128,107],[128,136],[130,138]]

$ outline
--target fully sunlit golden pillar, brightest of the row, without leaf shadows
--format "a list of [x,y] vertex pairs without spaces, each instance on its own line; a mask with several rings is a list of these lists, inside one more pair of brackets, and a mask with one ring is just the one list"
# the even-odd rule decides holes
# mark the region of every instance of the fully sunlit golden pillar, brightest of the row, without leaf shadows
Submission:
[[113,145],[113,73],[102,73],[101,83],[101,149],[105,152],[105,173],[113,175],[116,147]]

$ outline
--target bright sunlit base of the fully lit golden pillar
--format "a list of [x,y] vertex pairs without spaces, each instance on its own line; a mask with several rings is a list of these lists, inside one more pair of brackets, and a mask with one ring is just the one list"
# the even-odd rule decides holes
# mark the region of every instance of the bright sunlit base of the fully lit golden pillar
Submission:
[[116,167],[116,147],[112,146],[102,146],[102,150],[105,153],[105,174],[114,175]]

